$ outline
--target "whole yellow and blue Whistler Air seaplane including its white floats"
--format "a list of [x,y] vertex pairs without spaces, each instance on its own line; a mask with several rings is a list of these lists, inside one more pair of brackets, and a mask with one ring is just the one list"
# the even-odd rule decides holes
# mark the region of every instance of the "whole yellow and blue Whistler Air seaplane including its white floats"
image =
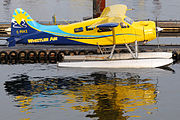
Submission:
[[[101,16],[68,25],[41,25],[27,12],[17,8],[12,17],[9,47],[16,44],[52,44],[52,45],[95,45],[111,46],[107,55],[85,56],[79,62],[58,62],[59,67],[80,68],[154,68],[170,65],[172,53],[138,52],[138,43],[156,39],[162,28],[154,21],[133,21],[126,16],[130,10],[126,5],[116,4],[106,7]],[[115,54],[117,45],[124,44],[129,54]],[[134,50],[129,46],[134,44]],[[75,56],[74,58],[83,58]]]

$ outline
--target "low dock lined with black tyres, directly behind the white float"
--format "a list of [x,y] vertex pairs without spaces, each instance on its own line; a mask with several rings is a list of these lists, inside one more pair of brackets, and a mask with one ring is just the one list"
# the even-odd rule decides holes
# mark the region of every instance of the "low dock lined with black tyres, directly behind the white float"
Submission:
[[[180,45],[140,45],[139,52],[173,52],[174,60],[180,59]],[[116,54],[128,53],[125,46],[117,46]],[[102,55],[97,46],[40,46],[17,45],[16,47],[0,46],[0,64],[33,64],[33,63],[57,63],[78,60],[87,60],[92,55]],[[80,57],[79,57],[80,56]]]

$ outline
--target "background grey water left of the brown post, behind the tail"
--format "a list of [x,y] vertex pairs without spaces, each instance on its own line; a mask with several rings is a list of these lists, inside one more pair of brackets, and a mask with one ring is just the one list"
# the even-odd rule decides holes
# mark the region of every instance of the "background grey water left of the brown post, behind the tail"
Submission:
[[1,0],[0,22],[10,21],[16,8],[23,8],[37,21],[52,21],[54,14],[57,21],[79,21],[92,14],[92,0]]

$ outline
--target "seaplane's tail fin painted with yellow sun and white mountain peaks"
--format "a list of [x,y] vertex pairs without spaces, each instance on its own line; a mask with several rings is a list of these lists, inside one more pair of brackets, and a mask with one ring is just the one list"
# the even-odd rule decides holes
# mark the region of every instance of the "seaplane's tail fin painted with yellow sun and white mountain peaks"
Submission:
[[21,8],[15,9],[11,21],[11,37],[8,38],[9,46],[14,46],[24,35],[37,32],[35,28],[39,26],[40,24],[34,21],[26,11]]

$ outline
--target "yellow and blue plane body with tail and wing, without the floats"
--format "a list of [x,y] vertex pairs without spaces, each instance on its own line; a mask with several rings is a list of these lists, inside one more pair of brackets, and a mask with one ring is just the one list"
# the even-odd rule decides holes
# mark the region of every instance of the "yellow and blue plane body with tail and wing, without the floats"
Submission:
[[[9,46],[15,44],[113,45],[156,38],[153,21],[134,22],[126,16],[126,5],[104,9],[99,18],[69,25],[46,26],[35,22],[24,10],[15,10]],[[116,38],[116,39],[115,39]]]

